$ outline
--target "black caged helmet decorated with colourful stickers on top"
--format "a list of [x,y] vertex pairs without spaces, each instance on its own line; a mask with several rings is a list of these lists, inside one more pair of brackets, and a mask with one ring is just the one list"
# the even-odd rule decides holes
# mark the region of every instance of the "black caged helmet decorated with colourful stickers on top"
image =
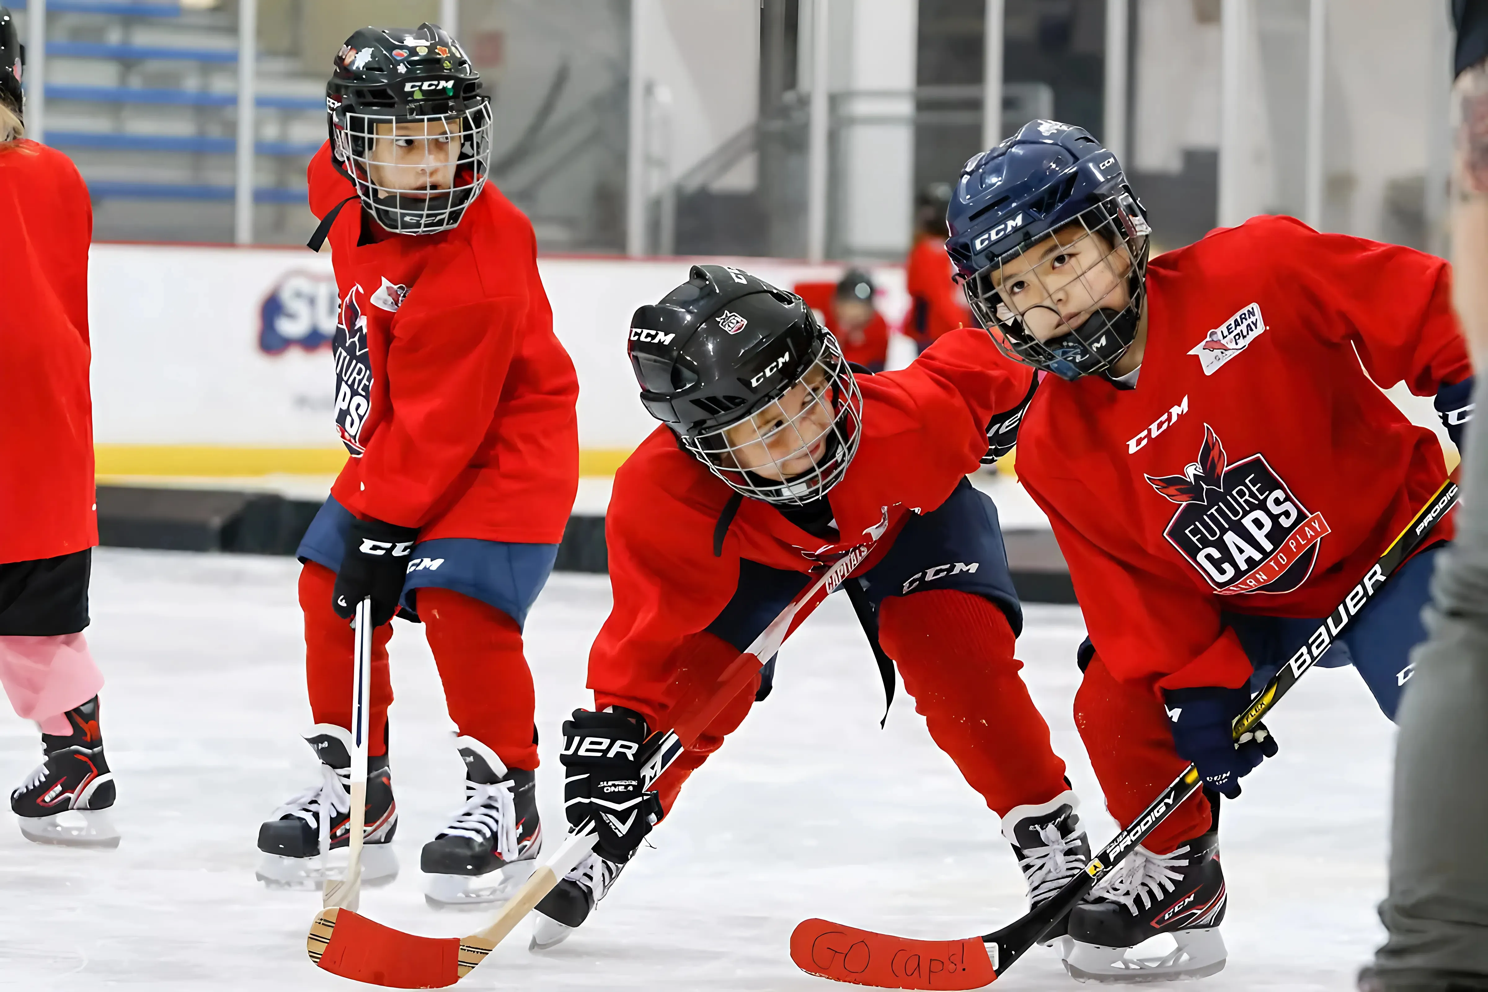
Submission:
[[[332,161],[388,231],[448,231],[485,184],[491,101],[437,24],[359,28],[332,62],[326,112]],[[388,170],[409,170],[400,175],[411,181],[388,184]]]

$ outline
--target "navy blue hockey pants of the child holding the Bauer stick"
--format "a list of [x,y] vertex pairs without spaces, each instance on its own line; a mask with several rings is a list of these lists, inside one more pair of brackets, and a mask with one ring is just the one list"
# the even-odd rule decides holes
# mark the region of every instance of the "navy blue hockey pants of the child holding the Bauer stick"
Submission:
[[[1391,720],[1400,705],[1400,693],[1411,681],[1411,648],[1426,640],[1421,608],[1431,599],[1431,571],[1442,547],[1445,544],[1430,547],[1402,565],[1317,662],[1321,668],[1353,665],[1379,709]],[[1321,622],[1321,617],[1299,620],[1226,613],[1225,623],[1235,629],[1250,663],[1256,666],[1250,692],[1265,689]]]

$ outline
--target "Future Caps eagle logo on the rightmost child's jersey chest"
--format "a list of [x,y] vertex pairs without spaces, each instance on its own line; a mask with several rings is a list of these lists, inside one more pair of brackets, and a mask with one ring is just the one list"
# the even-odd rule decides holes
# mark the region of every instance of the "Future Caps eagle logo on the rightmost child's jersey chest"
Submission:
[[1260,454],[1229,464],[1214,428],[1204,425],[1198,461],[1177,476],[1147,476],[1178,504],[1162,535],[1220,595],[1292,592],[1312,574],[1329,534]]

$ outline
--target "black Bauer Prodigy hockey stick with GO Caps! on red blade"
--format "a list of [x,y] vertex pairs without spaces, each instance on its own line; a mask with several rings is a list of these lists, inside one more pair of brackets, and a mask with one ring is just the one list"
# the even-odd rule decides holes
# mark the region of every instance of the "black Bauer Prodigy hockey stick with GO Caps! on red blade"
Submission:
[[[1348,590],[1338,608],[1312,632],[1286,665],[1266,683],[1245,712],[1235,717],[1237,739],[1271,712],[1323,651],[1363,610],[1457,501],[1457,483],[1448,480],[1415,515],[1379,561]],[[824,919],[808,919],[790,935],[790,959],[802,971],[882,989],[979,989],[994,982],[1024,955],[1046,930],[1064,918],[1085,894],[1132,852],[1168,815],[1199,790],[1198,770],[1189,764],[1178,778],[1126,830],[1103,848],[1085,872],[1065,882],[1048,901],[1018,921],[981,937],[914,940],[893,937]]]

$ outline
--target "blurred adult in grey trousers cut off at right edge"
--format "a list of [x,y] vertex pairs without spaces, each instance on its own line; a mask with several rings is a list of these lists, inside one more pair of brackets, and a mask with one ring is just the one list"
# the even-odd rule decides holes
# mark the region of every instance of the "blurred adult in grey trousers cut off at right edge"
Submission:
[[[1452,302],[1488,354],[1488,0],[1455,0]],[[1475,397],[1476,399],[1476,397]],[[1467,431],[1457,541],[1442,553],[1396,745],[1390,938],[1363,992],[1488,989],[1488,430]]]

